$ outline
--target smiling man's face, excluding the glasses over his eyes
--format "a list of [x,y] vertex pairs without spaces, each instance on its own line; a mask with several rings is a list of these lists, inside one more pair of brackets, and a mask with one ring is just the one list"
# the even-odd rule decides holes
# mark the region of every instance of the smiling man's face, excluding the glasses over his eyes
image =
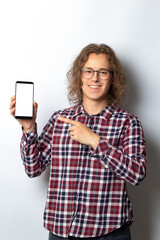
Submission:
[[[106,54],[95,54],[91,53],[88,60],[84,64],[83,68],[91,68],[95,71],[101,69],[110,68],[110,63]],[[83,91],[83,102],[84,101],[97,101],[107,104],[108,92],[112,83],[112,75],[109,74],[107,80],[101,80],[97,72],[94,72],[90,79],[81,77],[82,81],[82,91]]]

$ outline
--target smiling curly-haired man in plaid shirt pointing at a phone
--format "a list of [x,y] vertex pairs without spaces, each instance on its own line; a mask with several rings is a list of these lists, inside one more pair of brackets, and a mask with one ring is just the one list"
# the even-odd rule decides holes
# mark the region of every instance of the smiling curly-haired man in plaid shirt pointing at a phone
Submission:
[[[29,177],[50,164],[44,212],[49,239],[129,240],[133,221],[126,182],[145,177],[146,154],[141,123],[118,107],[125,76],[113,50],[90,44],[68,72],[73,107],[55,112],[38,138],[32,120],[23,127],[21,156]],[[11,100],[14,116],[15,97]]]

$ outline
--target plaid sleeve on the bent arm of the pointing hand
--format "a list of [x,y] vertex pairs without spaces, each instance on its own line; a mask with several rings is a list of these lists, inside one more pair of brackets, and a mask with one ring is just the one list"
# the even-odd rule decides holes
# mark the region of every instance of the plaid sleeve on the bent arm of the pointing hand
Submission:
[[145,140],[139,120],[128,120],[122,135],[121,147],[114,147],[101,137],[97,149],[91,149],[90,154],[121,179],[138,185],[146,174]]

